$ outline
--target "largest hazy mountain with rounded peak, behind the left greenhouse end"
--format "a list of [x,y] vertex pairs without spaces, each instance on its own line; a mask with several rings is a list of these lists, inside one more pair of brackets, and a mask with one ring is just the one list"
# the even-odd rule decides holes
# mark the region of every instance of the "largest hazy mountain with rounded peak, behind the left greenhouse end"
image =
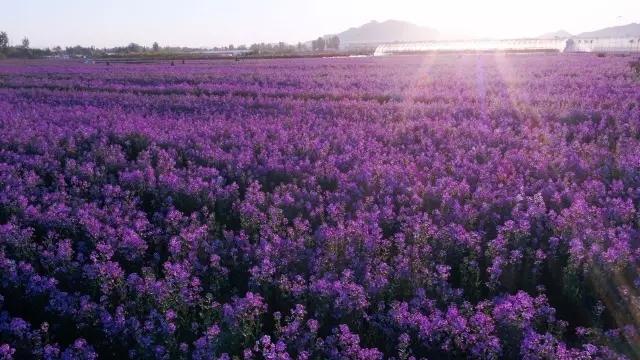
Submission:
[[428,41],[440,38],[440,33],[428,27],[405,21],[371,21],[357,28],[336,34],[341,45],[376,44],[389,42]]

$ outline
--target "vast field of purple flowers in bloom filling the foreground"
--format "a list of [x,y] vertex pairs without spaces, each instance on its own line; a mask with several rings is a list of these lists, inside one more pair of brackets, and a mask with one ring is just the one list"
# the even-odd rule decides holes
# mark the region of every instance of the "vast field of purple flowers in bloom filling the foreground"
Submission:
[[0,63],[0,359],[639,358],[631,60]]

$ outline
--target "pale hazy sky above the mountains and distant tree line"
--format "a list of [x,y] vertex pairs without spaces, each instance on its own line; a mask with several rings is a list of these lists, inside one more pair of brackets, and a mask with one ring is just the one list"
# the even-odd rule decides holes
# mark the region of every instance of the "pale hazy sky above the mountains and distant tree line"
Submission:
[[0,0],[0,9],[0,30],[33,47],[295,43],[387,19],[503,38],[640,22],[639,0]]

